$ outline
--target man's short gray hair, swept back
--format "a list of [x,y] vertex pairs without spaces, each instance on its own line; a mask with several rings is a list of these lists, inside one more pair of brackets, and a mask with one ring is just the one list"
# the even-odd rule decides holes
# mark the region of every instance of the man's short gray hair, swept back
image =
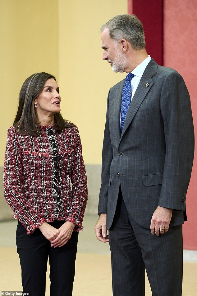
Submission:
[[114,16],[101,27],[101,33],[104,29],[109,30],[109,36],[117,43],[121,39],[125,39],[131,43],[135,50],[145,48],[144,29],[141,21],[135,14]]

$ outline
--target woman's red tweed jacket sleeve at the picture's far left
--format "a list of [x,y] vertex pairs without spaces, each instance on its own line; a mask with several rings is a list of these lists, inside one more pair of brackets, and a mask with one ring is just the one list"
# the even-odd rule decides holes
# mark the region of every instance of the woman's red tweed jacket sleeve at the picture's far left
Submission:
[[4,196],[14,211],[14,218],[19,219],[27,230],[33,232],[46,220],[41,217],[28,202],[22,188],[23,168],[21,145],[17,139],[17,132],[11,127],[7,132],[7,145],[4,162]]

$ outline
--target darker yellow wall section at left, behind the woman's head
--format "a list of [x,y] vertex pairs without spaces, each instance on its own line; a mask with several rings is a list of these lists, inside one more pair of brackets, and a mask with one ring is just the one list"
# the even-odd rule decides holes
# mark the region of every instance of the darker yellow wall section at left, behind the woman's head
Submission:
[[57,7],[57,0],[0,0],[0,166],[22,83],[35,72],[58,76]]

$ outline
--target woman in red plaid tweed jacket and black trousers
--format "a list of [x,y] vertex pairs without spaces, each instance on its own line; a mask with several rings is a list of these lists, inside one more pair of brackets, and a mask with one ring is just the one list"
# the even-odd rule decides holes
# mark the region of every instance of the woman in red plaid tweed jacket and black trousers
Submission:
[[[18,219],[17,252],[23,291],[70,296],[78,232],[87,203],[87,181],[78,129],[63,120],[53,75],[25,80],[14,124],[8,129],[4,195]],[[70,185],[72,183],[72,186]]]

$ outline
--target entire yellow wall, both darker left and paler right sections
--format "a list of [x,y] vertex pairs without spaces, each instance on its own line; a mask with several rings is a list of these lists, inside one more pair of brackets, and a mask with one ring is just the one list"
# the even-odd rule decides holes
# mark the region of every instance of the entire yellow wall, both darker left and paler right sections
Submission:
[[80,131],[85,163],[100,164],[108,90],[125,77],[102,61],[100,27],[127,12],[127,0],[0,0],[1,142],[18,94],[35,72],[57,77],[64,118]]

